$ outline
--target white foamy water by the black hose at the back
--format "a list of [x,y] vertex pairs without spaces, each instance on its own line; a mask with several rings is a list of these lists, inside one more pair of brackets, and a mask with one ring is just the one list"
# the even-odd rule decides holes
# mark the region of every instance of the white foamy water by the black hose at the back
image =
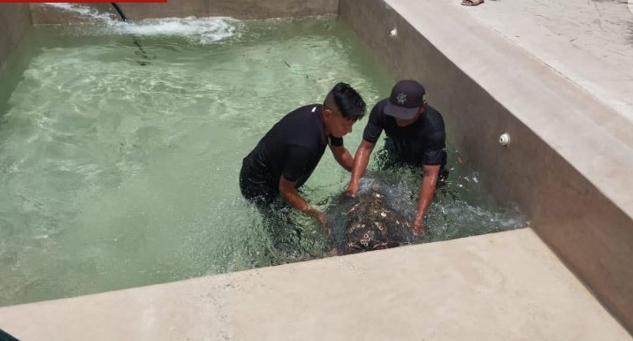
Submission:
[[[123,22],[113,18],[111,13],[101,13],[94,8],[81,4],[44,3],[62,11],[72,11],[82,17],[103,22],[104,27],[95,33],[136,34],[139,36],[179,36],[189,41],[209,44],[229,38],[236,34],[240,21],[229,17],[208,18],[164,18],[134,21],[128,18]],[[85,32],[88,33],[88,32]]]

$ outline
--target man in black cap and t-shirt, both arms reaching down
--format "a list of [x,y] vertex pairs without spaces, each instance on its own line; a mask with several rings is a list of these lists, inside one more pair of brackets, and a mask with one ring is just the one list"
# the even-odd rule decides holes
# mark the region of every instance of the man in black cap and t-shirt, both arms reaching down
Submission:
[[444,120],[426,103],[424,95],[424,87],[416,80],[400,80],[391,96],[374,106],[356,150],[352,179],[346,190],[353,196],[358,193],[358,182],[384,130],[387,154],[396,162],[421,166],[423,170],[414,222],[416,236],[426,232],[423,218],[433,199],[440,169],[446,164]]

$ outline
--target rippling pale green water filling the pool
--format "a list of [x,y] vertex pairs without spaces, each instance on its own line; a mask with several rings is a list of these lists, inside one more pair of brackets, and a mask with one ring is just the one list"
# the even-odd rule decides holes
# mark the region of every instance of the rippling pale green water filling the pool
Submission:
[[[0,306],[328,254],[328,240],[301,216],[293,249],[272,247],[240,196],[241,158],[280,117],[322,102],[339,81],[370,106],[393,85],[333,17],[35,27],[25,42],[34,44],[20,47],[33,51],[25,70],[0,96]],[[352,152],[365,122],[345,139]],[[449,157],[449,183],[420,242],[526,224],[495,207],[458,151]],[[411,198],[403,209],[413,209],[419,174],[394,174]],[[304,193],[327,208],[348,178],[326,152]]]

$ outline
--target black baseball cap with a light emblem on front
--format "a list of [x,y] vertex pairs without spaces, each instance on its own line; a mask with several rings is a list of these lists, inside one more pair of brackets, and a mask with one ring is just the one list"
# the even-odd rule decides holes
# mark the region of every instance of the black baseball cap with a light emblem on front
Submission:
[[416,80],[400,80],[392,88],[385,105],[385,115],[401,119],[411,119],[424,102],[424,87]]

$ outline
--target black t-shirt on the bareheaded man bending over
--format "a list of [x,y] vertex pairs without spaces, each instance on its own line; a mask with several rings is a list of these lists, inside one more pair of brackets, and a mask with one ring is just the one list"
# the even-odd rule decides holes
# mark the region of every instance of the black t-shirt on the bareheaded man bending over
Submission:
[[287,114],[272,126],[255,149],[245,158],[242,167],[246,180],[267,185],[278,191],[279,178],[303,185],[317,168],[328,140],[342,146],[343,139],[325,134],[321,104],[311,104]]

